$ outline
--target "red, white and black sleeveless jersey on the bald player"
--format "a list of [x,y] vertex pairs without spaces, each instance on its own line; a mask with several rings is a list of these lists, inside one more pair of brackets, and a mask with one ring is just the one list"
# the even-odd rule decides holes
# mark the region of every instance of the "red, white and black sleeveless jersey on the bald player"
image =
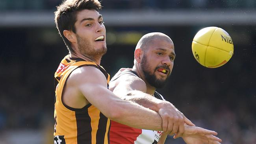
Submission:
[[[114,76],[111,81],[119,78],[123,74],[137,74],[132,70],[124,70],[119,75]],[[155,91],[154,97],[164,100],[163,96]],[[110,144],[157,144],[162,131],[148,129],[136,129],[111,120]]]

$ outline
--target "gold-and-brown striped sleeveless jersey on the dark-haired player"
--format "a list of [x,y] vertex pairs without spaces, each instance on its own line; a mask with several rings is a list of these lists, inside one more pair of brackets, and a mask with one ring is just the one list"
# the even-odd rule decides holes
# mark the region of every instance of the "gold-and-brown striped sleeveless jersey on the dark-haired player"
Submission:
[[70,73],[81,66],[94,66],[105,76],[109,84],[110,76],[93,62],[65,56],[55,72],[56,90],[54,107],[54,144],[109,144],[110,120],[96,107],[85,105],[75,109],[62,102],[62,92]]

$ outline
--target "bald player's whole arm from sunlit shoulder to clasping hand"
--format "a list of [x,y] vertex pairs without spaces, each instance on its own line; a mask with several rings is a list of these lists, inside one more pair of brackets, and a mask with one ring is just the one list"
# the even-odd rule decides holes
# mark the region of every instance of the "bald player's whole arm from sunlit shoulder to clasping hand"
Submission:
[[[147,91],[146,84],[137,76],[124,74],[115,81],[111,81],[109,86],[122,99],[133,101],[158,112],[163,120],[163,127],[170,127],[172,134],[181,135],[184,132],[184,123],[195,126],[170,102],[159,100],[145,93]],[[163,131],[167,131],[167,129],[163,129]]]

